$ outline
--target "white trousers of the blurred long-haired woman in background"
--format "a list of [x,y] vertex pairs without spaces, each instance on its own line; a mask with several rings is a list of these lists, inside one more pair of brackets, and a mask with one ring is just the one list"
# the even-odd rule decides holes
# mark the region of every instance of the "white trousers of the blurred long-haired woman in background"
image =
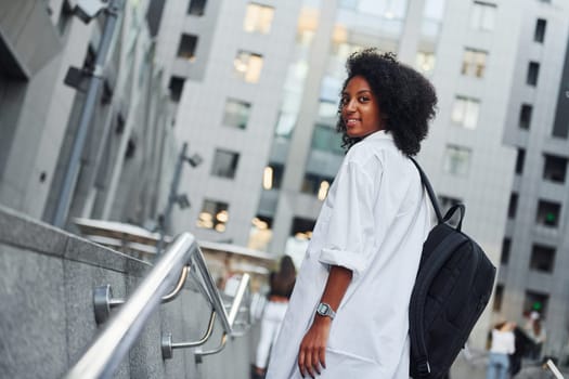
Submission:
[[286,313],[287,302],[269,301],[264,305],[264,312],[261,319],[261,336],[257,345],[257,358],[255,365],[259,368],[267,368],[271,348],[279,337],[281,325]]

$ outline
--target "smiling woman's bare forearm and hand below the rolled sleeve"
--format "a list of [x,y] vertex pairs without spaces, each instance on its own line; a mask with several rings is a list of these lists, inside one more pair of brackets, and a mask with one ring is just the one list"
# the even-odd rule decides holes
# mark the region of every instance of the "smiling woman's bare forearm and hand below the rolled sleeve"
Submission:
[[[331,266],[321,301],[337,311],[350,285],[351,277],[351,270],[337,265]],[[326,368],[325,352],[331,326],[332,318],[321,316],[318,313],[314,315],[312,326],[305,335],[298,352],[298,368],[302,377],[309,374],[314,378],[315,373],[320,374],[321,366]]]

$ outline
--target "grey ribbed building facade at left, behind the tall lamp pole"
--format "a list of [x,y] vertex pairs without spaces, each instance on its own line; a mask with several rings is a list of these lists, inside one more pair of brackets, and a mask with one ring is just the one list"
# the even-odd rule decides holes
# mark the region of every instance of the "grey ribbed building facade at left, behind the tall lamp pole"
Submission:
[[[170,129],[148,1],[107,2],[114,27],[104,9],[81,21],[77,3],[0,2],[0,201],[70,230],[76,217],[142,224],[157,214]],[[101,84],[88,117],[92,77]]]

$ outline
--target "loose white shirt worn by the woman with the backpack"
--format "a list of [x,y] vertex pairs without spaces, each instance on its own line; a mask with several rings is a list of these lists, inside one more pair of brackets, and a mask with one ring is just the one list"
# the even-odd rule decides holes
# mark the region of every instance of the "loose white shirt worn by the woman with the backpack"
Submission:
[[418,171],[392,136],[378,131],[353,145],[314,226],[267,378],[301,378],[298,350],[329,265],[353,277],[319,378],[409,378],[409,302],[430,227]]

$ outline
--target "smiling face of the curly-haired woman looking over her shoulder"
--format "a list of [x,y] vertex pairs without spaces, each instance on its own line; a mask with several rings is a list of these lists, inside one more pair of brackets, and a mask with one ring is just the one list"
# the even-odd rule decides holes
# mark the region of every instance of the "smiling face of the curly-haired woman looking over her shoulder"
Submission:
[[384,129],[379,103],[364,77],[354,76],[341,92],[341,118],[351,138]]

